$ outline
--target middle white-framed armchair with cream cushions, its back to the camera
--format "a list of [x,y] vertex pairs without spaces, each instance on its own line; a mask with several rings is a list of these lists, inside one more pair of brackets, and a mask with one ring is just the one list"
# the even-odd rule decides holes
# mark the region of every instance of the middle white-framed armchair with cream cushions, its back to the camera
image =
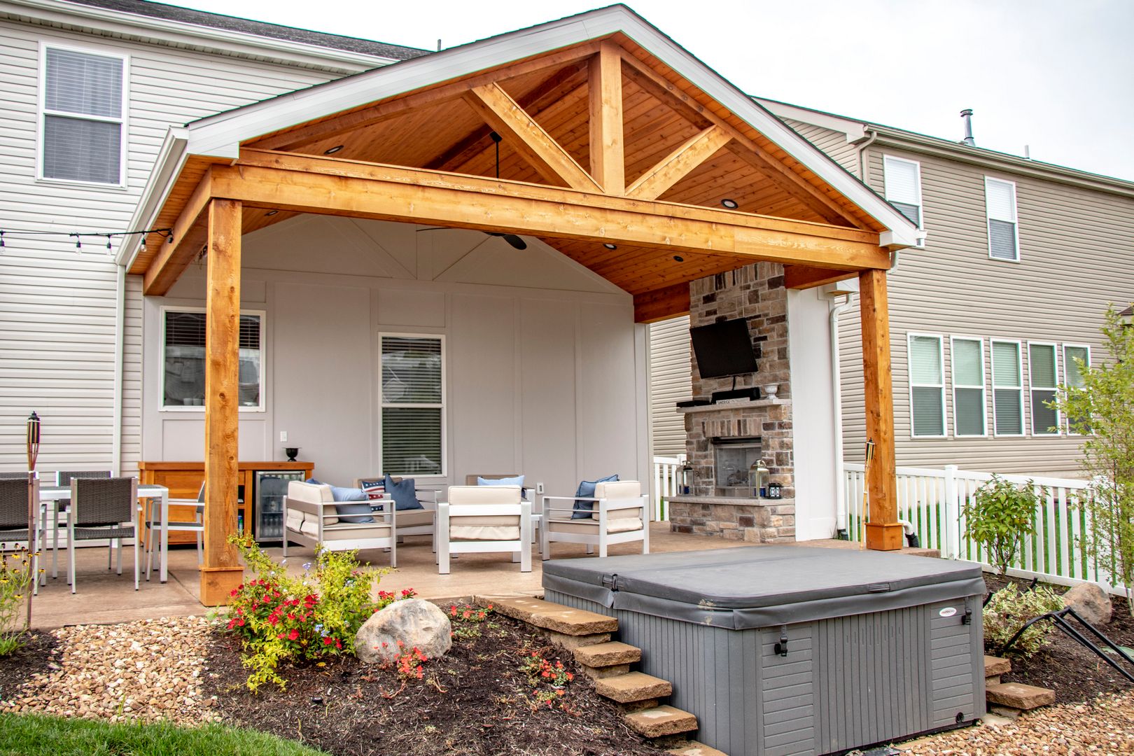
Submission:
[[521,572],[532,571],[532,502],[518,485],[450,485],[437,504],[438,572],[449,574],[449,555],[511,552]]

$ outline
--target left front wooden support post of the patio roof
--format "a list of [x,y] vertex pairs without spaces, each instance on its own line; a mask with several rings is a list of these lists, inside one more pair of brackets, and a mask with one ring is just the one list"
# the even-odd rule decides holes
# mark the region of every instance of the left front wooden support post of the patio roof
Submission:
[[209,203],[205,299],[205,535],[201,603],[228,603],[244,579],[236,547],[237,407],[240,351],[240,210],[234,199]]

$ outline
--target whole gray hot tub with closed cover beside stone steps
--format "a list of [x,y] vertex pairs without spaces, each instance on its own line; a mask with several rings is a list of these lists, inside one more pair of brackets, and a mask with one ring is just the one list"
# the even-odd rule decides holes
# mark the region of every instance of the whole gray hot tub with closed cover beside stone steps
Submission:
[[804,546],[543,563],[548,601],[618,618],[730,756],[827,754],[984,713],[980,567]]

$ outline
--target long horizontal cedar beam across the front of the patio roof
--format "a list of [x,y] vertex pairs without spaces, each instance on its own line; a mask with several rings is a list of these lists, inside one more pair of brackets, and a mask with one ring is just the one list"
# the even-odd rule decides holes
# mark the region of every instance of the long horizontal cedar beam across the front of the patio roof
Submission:
[[214,196],[249,206],[734,254],[818,267],[889,267],[878,235],[556,187],[332,158],[242,151]]

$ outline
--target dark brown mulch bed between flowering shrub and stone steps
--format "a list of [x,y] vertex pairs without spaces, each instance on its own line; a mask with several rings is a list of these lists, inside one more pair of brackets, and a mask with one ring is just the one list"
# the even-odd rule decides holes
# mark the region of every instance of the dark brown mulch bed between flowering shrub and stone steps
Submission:
[[[454,638],[452,649],[424,664],[425,678],[403,680],[341,659],[325,668],[288,669],[286,691],[245,688],[246,671],[232,638],[209,652],[205,695],[217,696],[226,723],[273,732],[332,754],[657,755],[594,691],[570,654],[521,622],[498,614],[477,626],[481,637]],[[538,705],[519,664],[532,651],[560,659],[575,679],[565,706]]]

